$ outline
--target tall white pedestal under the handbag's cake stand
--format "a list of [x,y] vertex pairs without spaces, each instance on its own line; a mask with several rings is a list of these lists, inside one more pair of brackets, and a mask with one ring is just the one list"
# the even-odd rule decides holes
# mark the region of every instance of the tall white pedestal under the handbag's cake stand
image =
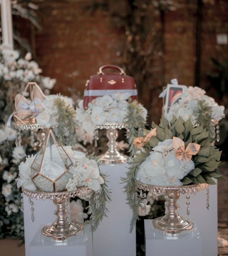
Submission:
[[108,187],[112,190],[112,201],[107,204],[108,217],[104,217],[97,231],[93,232],[94,256],[135,256],[135,229],[130,234],[132,212],[126,204],[124,184],[121,177],[126,176],[124,164],[101,165],[101,172],[107,173]]

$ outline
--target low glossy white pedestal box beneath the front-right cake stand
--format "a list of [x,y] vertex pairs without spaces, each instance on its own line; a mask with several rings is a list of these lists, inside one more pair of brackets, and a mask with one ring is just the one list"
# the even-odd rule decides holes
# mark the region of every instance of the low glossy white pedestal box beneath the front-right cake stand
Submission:
[[203,255],[202,239],[196,225],[192,233],[182,236],[164,236],[160,230],[154,228],[151,219],[144,220],[144,227],[146,256]]

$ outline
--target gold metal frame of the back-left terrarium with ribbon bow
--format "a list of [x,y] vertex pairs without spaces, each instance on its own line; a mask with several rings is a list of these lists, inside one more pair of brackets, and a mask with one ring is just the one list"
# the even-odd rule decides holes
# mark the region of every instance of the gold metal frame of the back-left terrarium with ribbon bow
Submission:
[[[41,93],[42,97],[43,97],[44,99],[46,99],[46,98],[45,98],[45,95],[43,94],[43,92],[42,92],[42,90],[41,90],[41,88],[37,85],[36,82],[28,82],[27,85],[25,86],[24,92],[22,93],[21,98],[20,98],[19,102],[17,103],[17,106],[15,106],[15,109],[14,109],[14,112],[13,112],[13,113],[14,113],[14,114],[13,114],[13,117],[14,117],[14,121],[15,121],[15,124],[16,124],[16,125],[26,125],[26,124],[35,124],[35,123],[37,123],[36,117],[31,118],[31,121],[24,122],[20,117],[17,116],[20,103],[21,103],[22,99],[25,98],[24,95],[25,95],[25,93],[27,92],[28,87],[30,87],[29,90],[30,90],[30,99],[31,99],[31,100],[34,100],[34,99],[33,99],[33,98],[34,98],[33,90],[34,90],[35,87],[36,87],[36,88],[38,89],[38,91]],[[34,107],[35,107],[35,109],[36,109],[36,104],[35,104],[35,102],[34,102]],[[34,114],[36,115],[36,113],[34,113]]]

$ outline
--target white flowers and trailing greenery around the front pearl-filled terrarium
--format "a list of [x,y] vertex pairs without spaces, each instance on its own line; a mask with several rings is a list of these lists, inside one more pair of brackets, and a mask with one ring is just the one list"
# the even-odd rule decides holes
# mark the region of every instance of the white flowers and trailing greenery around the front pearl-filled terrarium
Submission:
[[[88,214],[91,214],[90,220],[86,221],[86,223],[92,223],[93,230],[96,230],[103,216],[107,214],[106,203],[111,200],[110,191],[107,188],[106,175],[100,172],[99,159],[94,156],[94,153],[86,157],[83,152],[72,150],[71,146],[63,146],[63,148],[73,163],[73,166],[69,167],[69,172],[73,175],[71,178],[62,179],[58,187],[61,190],[75,191],[77,187],[88,186],[93,190],[90,194],[88,206]],[[57,157],[53,149],[53,161],[58,163],[60,161],[58,160],[59,157]],[[65,156],[65,152],[62,152],[63,156]],[[19,178],[16,179],[17,187],[23,186],[28,190],[35,191],[38,184],[42,191],[51,192],[51,189],[53,189],[52,184],[46,184],[43,180],[36,181],[35,184],[31,179],[31,166],[36,156],[37,154],[28,156],[25,162],[20,163]]]

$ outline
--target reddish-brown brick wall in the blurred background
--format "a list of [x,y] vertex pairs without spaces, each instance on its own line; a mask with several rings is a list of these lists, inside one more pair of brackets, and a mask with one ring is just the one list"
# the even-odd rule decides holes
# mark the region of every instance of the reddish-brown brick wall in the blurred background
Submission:
[[[121,11],[124,0],[116,1],[119,1]],[[176,77],[179,84],[195,86],[198,1],[173,2],[178,4],[178,10],[164,14],[165,72],[160,77],[161,82],[156,83],[157,89],[152,97],[146,95],[147,88],[140,95],[141,102],[147,106],[155,121],[161,115],[162,100],[157,96],[162,85]],[[35,3],[39,6],[42,31],[20,19],[16,19],[15,23],[21,33],[32,42],[33,55],[43,69],[43,74],[57,79],[52,93],[70,95],[68,87],[72,87],[83,94],[85,81],[90,75],[97,73],[101,65],[123,65],[120,53],[125,45],[126,35],[123,30],[113,26],[115,20],[112,20],[113,17],[108,12],[108,1],[49,0]],[[95,8],[97,6],[104,7]],[[208,87],[210,81],[207,78],[207,74],[215,71],[211,58],[219,61],[227,59],[227,44],[217,44],[218,33],[227,33],[227,0],[204,0],[199,84],[213,96],[215,92]],[[226,96],[220,99],[220,104],[227,104],[226,100]]]

